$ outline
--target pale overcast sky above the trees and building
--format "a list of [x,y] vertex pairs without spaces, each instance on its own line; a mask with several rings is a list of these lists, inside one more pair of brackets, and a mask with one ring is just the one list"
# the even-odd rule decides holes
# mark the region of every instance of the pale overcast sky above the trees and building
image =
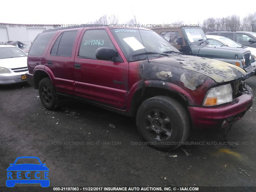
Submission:
[[255,5],[255,0],[2,0],[0,23],[86,24],[104,14],[114,14],[120,23],[126,23],[135,15],[140,24],[178,20],[184,24],[202,24],[208,17],[236,14],[243,18],[256,12]]

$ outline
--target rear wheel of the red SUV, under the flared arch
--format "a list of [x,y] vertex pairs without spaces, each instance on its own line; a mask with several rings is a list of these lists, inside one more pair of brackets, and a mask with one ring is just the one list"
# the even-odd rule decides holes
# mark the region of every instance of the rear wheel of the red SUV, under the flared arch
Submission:
[[40,100],[46,109],[55,110],[60,106],[60,101],[50,78],[43,78],[39,82],[38,91]]

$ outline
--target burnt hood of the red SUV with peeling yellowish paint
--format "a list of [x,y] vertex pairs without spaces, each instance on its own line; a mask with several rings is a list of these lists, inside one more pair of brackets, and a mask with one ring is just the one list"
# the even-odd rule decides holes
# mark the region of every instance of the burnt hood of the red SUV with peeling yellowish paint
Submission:
[[232,64],[196,56],[177,54],[175,56],[152,59],[150,63],[156,63],[157,66],[159,66],[159,64],[166,65],[166,67],[161,66],[161,68],[166,68],[166,70],[170,69],[170,73],[172,72],[171,70],[174,70],[173,67],[180,68],[181,70],[190,70],[199,73],[198,75],[202,74],[208,76],[216,83],[229,82],[246,75],[244,70]]

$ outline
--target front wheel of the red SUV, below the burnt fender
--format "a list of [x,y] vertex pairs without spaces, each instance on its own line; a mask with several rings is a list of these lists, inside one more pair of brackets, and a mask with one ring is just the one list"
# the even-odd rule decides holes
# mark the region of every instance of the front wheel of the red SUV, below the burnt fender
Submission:
[[186,141],[190,119],[184,107],[168,96],[144,101],[137,112],[138,132],[149,144],[160,150],[174,150]]

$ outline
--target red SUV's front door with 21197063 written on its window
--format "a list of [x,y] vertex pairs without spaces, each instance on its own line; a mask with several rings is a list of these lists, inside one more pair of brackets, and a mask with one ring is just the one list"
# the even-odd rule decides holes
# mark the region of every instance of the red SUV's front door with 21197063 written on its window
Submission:
[[[106,31],[109,31],[108,32]],[[114,41],[114,42],[113,42]],[[95,56],[100,47],[117,50],[116,41],[106,29],[84,29],[74,61],[75,89],[77,96],[118,109],[125,109],[128,92],[128,62],[98,60]],[[118,47],[118,46],[117,46]]]

